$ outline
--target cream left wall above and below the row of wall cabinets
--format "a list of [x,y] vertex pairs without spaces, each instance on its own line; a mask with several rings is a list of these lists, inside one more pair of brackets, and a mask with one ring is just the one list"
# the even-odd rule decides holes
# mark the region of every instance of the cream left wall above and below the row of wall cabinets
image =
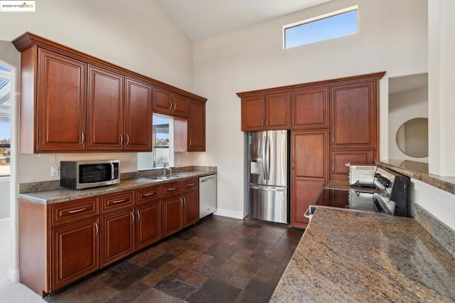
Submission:
[[[12,41],[30,31],[122,68],[193,90],[193,43],[155,1],[115,6],[107,0],[40,0],[34,13],[2,13],[0,28],[0,41]],[[19,54],[15,55],[18,60]],[[137,171],[136,153],[20,154],[18,183],[58,179],[50,177],[55,159],[120,159],[122,173]],[[191,154],[183,156],[183,164],[192,162]]]

